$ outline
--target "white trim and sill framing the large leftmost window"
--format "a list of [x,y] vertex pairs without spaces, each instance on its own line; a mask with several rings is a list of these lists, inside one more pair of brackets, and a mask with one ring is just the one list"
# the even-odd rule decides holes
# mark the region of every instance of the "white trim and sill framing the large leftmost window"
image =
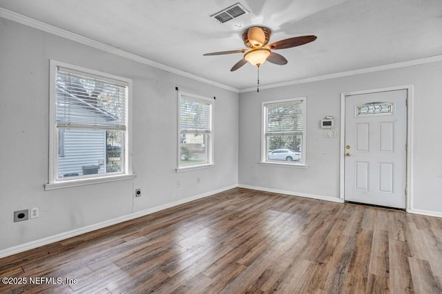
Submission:
[[[48,182],[44,185],[45,190],[61,189],[66,187],[77,187],[83,185],[97,184],[100,182],[113,182],[115,180],[126,180],[135,178],[135,174],[132,171],[132,80],[130,78],[124,78],[122,76],[116,76],[114,74],[108,74],[106,72],[100,72],[97,70],[92,70],[86,67],[81,67],[78,65],[72,65],[69,63],[64,63],[62,61],[56,61],[50,59],[50,70],[49,70],[49,172],[48,172]],[[64,67],[75,72],[81,72],[83,74],[88,74],[93,78],[102,77],[108,81],[119,81],[125,83],[128,86],[127,93],[127,125],[126,134],[124,136],[124,160],[122,160],[122,171],[120,173],[113,174],[97,174],[93,177],[87,178],[57,178],[57,164],[58,164],[58,134],[56,127],[56,75],[57,67]]]

